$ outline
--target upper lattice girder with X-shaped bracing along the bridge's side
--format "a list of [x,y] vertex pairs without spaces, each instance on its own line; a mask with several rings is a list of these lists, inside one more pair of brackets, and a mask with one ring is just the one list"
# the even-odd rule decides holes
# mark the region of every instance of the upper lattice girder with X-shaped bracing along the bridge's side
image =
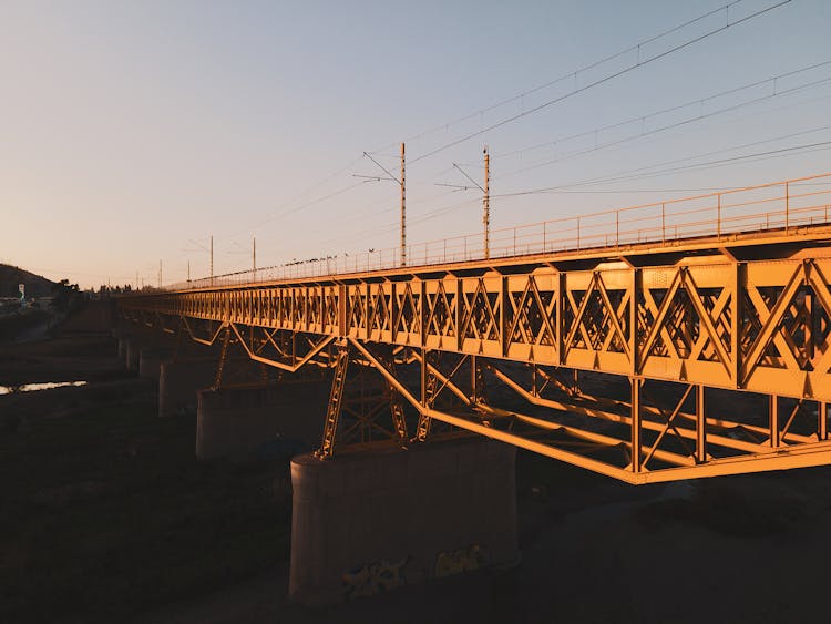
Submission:
[[[493,272],[122,299],[142,314],[831,400],[831,259]],[[370,277],[372,282],[370,282]]]

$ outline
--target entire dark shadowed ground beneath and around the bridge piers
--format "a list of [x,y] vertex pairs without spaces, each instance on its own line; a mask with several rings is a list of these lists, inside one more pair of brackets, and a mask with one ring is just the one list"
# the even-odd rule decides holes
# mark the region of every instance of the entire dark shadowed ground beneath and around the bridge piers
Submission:
[[4,624],[828,621],[831,469],[636,488],[526,452],[516,566],[308,610],[285,459],[196,462],[105,333],[0,346],[0,385],[76,379],[0,397]]

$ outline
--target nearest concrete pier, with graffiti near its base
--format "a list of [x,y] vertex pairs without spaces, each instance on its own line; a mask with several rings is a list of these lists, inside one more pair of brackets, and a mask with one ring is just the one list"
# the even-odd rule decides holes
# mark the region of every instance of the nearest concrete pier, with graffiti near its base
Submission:
[[289,596],[321,606],[516,562],[514,462],[486,439],[296,457]]

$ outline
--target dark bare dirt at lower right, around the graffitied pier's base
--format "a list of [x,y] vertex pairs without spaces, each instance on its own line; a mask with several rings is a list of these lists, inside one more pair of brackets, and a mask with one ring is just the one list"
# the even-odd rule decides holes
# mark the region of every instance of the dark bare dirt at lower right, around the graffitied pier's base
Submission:
[[649,491],[556,466],[541,498],[526,482],[537,461],[520,461],[516,567],[315,611],[287,601],[279,565],[135,623],[828,622],[828,469]]

